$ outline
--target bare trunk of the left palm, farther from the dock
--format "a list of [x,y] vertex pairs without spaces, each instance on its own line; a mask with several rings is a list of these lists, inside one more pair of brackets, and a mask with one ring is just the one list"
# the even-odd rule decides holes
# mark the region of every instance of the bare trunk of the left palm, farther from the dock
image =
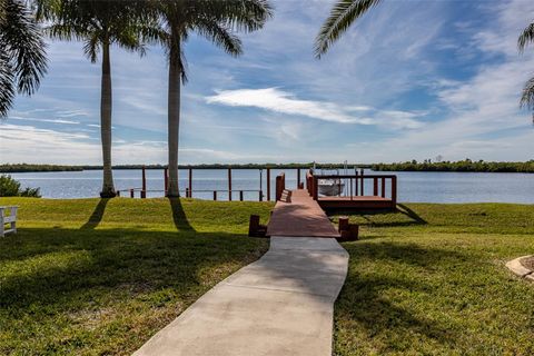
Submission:
[[103,179],[100,197],[112,198],[117,194],[111,170],[111,65],[109,43],[102,43],[102,82],[100,97],[100,135],[102,140]]

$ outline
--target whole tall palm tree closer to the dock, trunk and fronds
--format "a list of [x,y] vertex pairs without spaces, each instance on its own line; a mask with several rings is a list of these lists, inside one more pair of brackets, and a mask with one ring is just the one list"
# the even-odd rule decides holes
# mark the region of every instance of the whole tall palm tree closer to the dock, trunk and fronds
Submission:
[[187,81],[184,42],[197,32],[227,53],[238,56],[243,52],[241,41],[233,30],[260,29],[271,16],[271,8],[267,0],[155,0],[152,6],[162,26],[151,37],[166,49],[169,62],[167,196],[178,197],[180,89]]

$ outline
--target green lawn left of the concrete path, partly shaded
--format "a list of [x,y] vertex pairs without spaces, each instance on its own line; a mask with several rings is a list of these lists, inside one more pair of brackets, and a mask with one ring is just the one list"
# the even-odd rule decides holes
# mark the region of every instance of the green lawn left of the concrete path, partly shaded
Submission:
[[271,206],[191,199],[0,198],[0,355],[129,355],[268,246]]

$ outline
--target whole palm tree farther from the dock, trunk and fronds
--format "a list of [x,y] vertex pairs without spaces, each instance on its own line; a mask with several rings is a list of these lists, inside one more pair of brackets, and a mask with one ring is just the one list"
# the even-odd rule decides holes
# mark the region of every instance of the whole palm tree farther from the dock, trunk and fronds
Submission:
[[100,197],[116,196],[111,169],[111,63],[110,47],[116,44],[141,56],[142,11],[140,1],[128,0],[38,0],[40,17],[52,24],[48,32],[61,40],[83,41],[85,55],[92,63],[102,56],[100,93],[100,136],[103,179]]

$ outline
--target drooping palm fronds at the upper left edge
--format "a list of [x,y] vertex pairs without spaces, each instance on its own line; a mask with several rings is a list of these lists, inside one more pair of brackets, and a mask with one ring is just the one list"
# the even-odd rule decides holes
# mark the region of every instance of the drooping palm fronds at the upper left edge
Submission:
[[30,9],[0,0],[0,117],[8,115],[16,92],[32,95],[47,71],[42,33]]

